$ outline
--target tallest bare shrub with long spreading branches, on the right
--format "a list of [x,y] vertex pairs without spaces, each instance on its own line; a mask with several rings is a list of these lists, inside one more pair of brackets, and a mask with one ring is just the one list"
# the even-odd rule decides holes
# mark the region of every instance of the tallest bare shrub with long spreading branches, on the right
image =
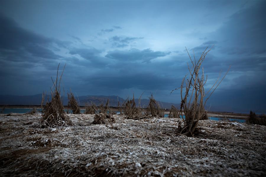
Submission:
[[[204,118],[206,119],[205,105],[206,105],[207,100],[210,98],[210,96],[213,94],[213,92],[219,86],[219,84],[223,81],[223,79],[225,78],[226,74],[228,73],[228,71],[230,69],[230,67],[229,67],[225,76],[223,76],[223,78],[221,79],[221,81],[217,85],[216,85],[216,83],[218,82],[219,78],[214,83],[214,85],[211,87],[211,89],[207,93],[205,93],[204,85],[207,81],[207,76],[205,78],[203,67],[201,70],[201,65],[202,65],[202,62],[204,61],[207,53],[210,52],[211,49],[208,50],[207,52],[206,52],[206,50],[207,50],[207,48],[204,50],[204,52],[202,53],[202,55],[200,56],[198,61],[196,61],[195,55],[194,55],[194,61],[193,61],[189,55],[188,50],[186,50],[188,55],[189,55],[190,61],[192,63],[192,68],[190,68],[189,64],[187,64],[188,69],[189,69],[189,78],[186,79],[186,76],[185,76],[183,78],[183,81],[182,81],[181,86],[180,86],[180,91],[181,91],[180,112],[182,112],[182,110],[183,110],[185,117],[186,117],[184,119],[183,115],[181,114],[182,121],[184,124],[179,122],[178,132],[180,134],[194,136],[194,133],[196,133],[195,130],[197,128],[197,124],[198,124],[199,120],[204,119]],[[202,73],[201,76],[200,76],[200,72]],[[183,88],[186,89],[184,95],[183,95]],[[179,88],[177,88],[177,89],[179,89]],[[175,89],[175,90],[177,90],[177,89]],[[173,91],[174,90],[172,90],[172,92]],[[210,93],[210,94],[208,95],[208,93]],[[208,97],[205,98],[207,95],[208,95]],[[203,101],[204,99],[205,99],[205,101]]]

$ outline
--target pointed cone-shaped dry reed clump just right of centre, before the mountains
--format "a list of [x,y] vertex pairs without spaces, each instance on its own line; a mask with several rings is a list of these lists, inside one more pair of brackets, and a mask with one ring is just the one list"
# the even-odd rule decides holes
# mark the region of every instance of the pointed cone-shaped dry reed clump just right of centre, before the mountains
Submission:
[[153,95],[149,97],[150,102],[147,107],[147,114],[151,117],[164,117],[164,111],[160,108],[160,104],[154,99]]

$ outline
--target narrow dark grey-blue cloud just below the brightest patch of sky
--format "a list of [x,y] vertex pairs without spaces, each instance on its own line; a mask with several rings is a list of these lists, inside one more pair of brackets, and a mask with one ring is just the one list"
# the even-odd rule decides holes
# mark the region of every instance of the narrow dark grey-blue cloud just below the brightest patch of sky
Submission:
[[112,58],[114,60],[128,60],[128,61],[137,61],[140,60],[142,62],[148,63],[150,60],[164,57],[169,55],[171,52],[161,52],[161,51],[153,51],[151,49],[138,50],[138,49],[130,49],[130,50],[113,50],[109,51],[106,55],[107,58]]

